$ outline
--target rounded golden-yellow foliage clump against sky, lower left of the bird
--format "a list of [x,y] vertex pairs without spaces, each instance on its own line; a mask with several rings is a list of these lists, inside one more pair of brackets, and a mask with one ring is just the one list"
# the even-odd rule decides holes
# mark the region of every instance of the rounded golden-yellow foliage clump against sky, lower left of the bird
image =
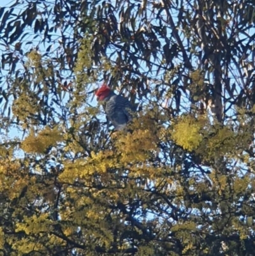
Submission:
[[33,131],[22,142],[22,149],[27,153],[44,153],[49,146],[55,146],[62,140],[61,132],[58,128],[45,128],[35,135]]

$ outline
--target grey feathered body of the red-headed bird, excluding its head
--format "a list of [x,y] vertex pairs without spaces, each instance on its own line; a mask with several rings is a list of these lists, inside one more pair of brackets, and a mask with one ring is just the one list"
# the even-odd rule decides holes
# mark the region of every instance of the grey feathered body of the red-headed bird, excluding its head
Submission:
[[111,92],[105,98],[105,112],[116,130],[122,130],[132,119],[132,112],[135,108],[127,98]]

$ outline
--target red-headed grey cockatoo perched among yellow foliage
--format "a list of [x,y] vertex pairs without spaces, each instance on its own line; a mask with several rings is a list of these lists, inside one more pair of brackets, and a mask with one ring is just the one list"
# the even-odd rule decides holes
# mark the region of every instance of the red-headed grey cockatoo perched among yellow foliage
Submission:
[[135,106],[121,95],[117,95],[105,83],[96,91],[98,102],[105,103],[105,112],[115,130],[124,130],[132,120]]

